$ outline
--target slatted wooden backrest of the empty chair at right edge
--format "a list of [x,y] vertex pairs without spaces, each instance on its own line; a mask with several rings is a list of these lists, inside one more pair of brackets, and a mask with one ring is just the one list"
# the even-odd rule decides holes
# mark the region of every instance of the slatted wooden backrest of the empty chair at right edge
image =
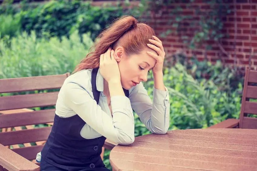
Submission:
[[257,118],[249,114],[257,114],[257,71],[245,72],[245,82],[242,96],[242,106],[239,117],[239,128],[257,129]]

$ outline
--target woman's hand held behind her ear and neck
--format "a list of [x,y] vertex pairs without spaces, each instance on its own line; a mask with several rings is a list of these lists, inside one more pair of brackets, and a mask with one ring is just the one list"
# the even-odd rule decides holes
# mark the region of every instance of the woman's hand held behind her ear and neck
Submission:
[[111,47],[100,55],[100,73],[103,78],[109,83],[110,81],[121,81],[118,63],[114,58],[114,50]]

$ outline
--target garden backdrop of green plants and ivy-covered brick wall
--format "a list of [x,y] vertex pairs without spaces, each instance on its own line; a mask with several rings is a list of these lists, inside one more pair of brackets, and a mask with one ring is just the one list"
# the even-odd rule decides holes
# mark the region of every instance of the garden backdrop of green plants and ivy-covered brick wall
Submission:
[[[257,44],[255,41],[257,39],[250,38],[251,44],[239,51],[240,42],[243,41],[240,41],[240,37],[235,38],[236,31],[233,33],[232,44],[229,43],[234,48],[228,49],[224,45],[226,42],[224,40],[231,37],[226,34],[229,33],[229,29],[224,34],[224,22],[227,21],[224,21],[224,17],[231,13],[235,15],[236,12],[233,10],[238,8],[240,2],[229,0],[154,2],[141,0],[111,1],[111,3],[68,0],[1,2],[0,79],[72,73],[76,64],[86,56],[94,41],[97,41],[96,36],[104,28],[122,15],[133,15],[139,21],[149,23],[156,29],[157,37],[163,41],[167,52],[163,72],[164,83],[169,89],[170,96],[169,130],[206,128],[228,118],[239,118],[244,71],[245,67],[256,69],[254,45]],[[192,13],[185,12],[185,8],[199,7],[199,3],[208,6],[200,8],[198,14],[200,17],[192,18]],[[250,2],[245,1],[245,3]],[[240,9],[245,3],[239,5]],[[251,3],[250,6],[251,10],[256,9],[256,3]],[[172,10],[164,11],[164,8]],[[196,11],[195,9],[194,13]],[[251,22],[249,37],[254,37],[250,35],[252,33],[256,35],[256,28],[252,22],[256,23],[257,15],[255,13],[253,15],[249,21]],[[165,25],[171,28],[163,26],[160,29],[160,23],[163,23],[164,18],[168,18]],[[186,34],[187,31],[191,32]],[[247,62],[242,63],[240,55],[243,55],[242,60]],[[152,72],[148,77],[144,86],[152,98]],[[135,136],[149,134],[139,117],[136,114],[134,116]],[[36,125],[36,127],[45,126],[47,125]],[[105,151],[104,163],[111,169],[109,153],[110,151]]]

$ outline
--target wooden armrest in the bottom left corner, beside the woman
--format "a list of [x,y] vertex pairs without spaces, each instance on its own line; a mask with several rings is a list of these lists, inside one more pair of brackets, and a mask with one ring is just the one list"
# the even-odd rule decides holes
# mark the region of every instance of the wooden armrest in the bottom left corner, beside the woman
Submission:
[[0,144],[0,165],[12,171],[39,171],[40,167]]

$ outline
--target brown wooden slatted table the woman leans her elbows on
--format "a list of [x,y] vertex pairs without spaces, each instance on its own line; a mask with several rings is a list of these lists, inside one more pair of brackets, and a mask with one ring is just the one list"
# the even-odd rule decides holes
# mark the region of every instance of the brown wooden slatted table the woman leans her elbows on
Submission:
[[255,170],[257,130],[191,129],[135,137],[110,153],[113,170]]

